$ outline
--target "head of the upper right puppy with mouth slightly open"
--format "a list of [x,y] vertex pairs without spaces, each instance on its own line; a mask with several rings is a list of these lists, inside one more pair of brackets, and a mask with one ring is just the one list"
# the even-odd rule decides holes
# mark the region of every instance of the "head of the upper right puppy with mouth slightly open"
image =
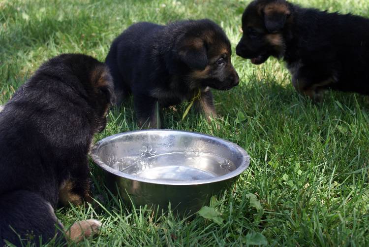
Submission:
[[242,16],[243,35],[236,54],[259,65],[270,56],[285,52],[284,34],[292,21],[292,8],[285,0],[254,0]]

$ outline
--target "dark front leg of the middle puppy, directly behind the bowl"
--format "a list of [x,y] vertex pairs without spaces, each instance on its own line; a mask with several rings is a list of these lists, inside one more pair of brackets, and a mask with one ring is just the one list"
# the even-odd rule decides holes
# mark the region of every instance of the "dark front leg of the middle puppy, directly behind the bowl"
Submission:
[[135,95],[133,101],[138,126],[142,129],[160,129],[160,107],[156,99],[144,95]]

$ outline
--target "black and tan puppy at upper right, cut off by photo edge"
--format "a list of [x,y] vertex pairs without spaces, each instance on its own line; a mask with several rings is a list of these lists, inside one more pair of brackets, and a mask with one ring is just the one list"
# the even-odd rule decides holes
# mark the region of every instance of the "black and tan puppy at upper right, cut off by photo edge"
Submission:
[[328,88],[369,94],[369,19],[254,0],[242,28],[236,53],[253,64],[283,58],[295,89],[311,99]]

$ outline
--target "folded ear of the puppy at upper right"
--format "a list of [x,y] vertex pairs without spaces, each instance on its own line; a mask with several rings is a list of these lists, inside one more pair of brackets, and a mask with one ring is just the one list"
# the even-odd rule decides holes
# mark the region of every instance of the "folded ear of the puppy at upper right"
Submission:
[[264,24],[269,33],[281,31],[291,11],[285,1],[268,4],[264,7]]

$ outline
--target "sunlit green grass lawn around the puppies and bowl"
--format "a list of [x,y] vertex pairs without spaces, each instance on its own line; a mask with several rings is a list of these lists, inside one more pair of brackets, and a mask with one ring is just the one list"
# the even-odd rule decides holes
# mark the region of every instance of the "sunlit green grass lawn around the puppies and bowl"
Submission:
[[[369,17],[367,0],[294,0],[304,6]],[[134,22],[165,24],[210,18],[220,24],[233,49],[241,37],[246,0],[0,0],[0,103],[47,59],[65,52],[103,61],[111,41]],[[238,143],[251,166],[232,191],[211,203],[221,224],[196,215],[144,213],[119,198],[104,209],[62,209],[65,225],[97,218],[101,235],[83,246],[368,246],[369,101],[329,92],[322,104],[299,96],[282,62],[262,66],[232,57],[241,84],[215,92],[220,129],[190,113],[181,120],[166,110],[171,129],[211,134]],[[138,129],[132,104],[113,110],[103,137]],[[92,164],[91,164],[92,165]],[[92,165],[95,193],[107,195]],[[254,195],[254,196],[251,196]],[[256,198],[256,200],[255,200]],[[260,205],[259,205],[259,203]],[[262,235],[262,236],[261,236]],[[264,237],[263,237],[264,236]]]

